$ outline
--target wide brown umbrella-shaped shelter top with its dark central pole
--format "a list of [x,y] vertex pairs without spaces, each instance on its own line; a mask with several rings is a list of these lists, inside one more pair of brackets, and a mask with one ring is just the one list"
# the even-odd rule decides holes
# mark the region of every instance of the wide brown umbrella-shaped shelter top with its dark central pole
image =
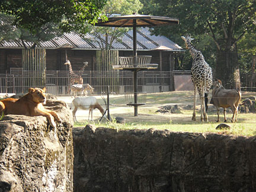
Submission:
[[[110,17],[108,21],[98,20],[97,26],[102,27],[133,27],[133,56],[134,60],[137,57],[137,27],[155,27],[159,25],[178,24],[177,18],[159,17],[152,15],[123,15],[117,17]],[[135,62],[134,62],[135,63]],[[137,116],[137,71],[139,69],[133,69],[133,89],[135,99],[135,116]]]

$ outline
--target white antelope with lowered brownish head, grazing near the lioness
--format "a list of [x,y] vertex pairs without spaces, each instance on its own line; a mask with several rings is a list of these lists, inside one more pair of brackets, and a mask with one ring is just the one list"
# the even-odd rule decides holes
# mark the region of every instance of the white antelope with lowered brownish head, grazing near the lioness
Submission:
[[[92,120],[92,111],[97,108],[98,110],[100,110],[101,114],[103,116],[105,116],[105,111],[103,109],[103,107],[101,107],[101,105],[98,103],[97,99],[95,97],[76,97],[73,99],[72,103],[71,103],[71,107],[72,108],[72,104],[74,105],[74,109],[72,111],[73,114],[73,119],[76,121],[76,111],[78,110],[78,108],[81,108],[82,110],[89,110],[89,116],[91,113],[91,120]],[[88,120],[89,120],[89,116],[88,116]]]

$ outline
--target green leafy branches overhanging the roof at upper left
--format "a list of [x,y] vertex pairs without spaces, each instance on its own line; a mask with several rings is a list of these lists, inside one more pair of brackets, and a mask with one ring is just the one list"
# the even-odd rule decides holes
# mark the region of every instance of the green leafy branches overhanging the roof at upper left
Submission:
[[[60,32],[87,31],[86,24],[94,24],[107,0],[2,0],[0,12],[12,15],[12,25],[29,34],[32,47],[42,40],[52,39]],[[50,34],[50,36],[49,36]],[[26,36],[21,36],[25,40]]]

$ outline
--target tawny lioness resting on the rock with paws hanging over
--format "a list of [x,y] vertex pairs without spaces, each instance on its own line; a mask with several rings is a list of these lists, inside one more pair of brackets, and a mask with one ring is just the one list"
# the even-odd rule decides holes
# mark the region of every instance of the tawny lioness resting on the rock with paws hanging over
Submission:
[[[25,116],[44,116],[47,117],[50,124],[56,128],[55,120],[61,123],[57,113],[52,110],[47,110],[43,107],[46,101],[45,90],[40,88],[29,88],[28,93],[19,99],[6,98],[0,101],[0,114],[19,114]],[[53,118],[54,117],[54,118]]]

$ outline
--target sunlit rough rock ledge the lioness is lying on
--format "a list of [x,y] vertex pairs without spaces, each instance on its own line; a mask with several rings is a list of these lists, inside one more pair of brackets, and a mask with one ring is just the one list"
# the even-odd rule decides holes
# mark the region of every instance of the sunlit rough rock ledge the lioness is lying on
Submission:
[[8,115],[0,121],[0,191],[73,191],[73,119],[66,103],[49,101],[63,123]]

